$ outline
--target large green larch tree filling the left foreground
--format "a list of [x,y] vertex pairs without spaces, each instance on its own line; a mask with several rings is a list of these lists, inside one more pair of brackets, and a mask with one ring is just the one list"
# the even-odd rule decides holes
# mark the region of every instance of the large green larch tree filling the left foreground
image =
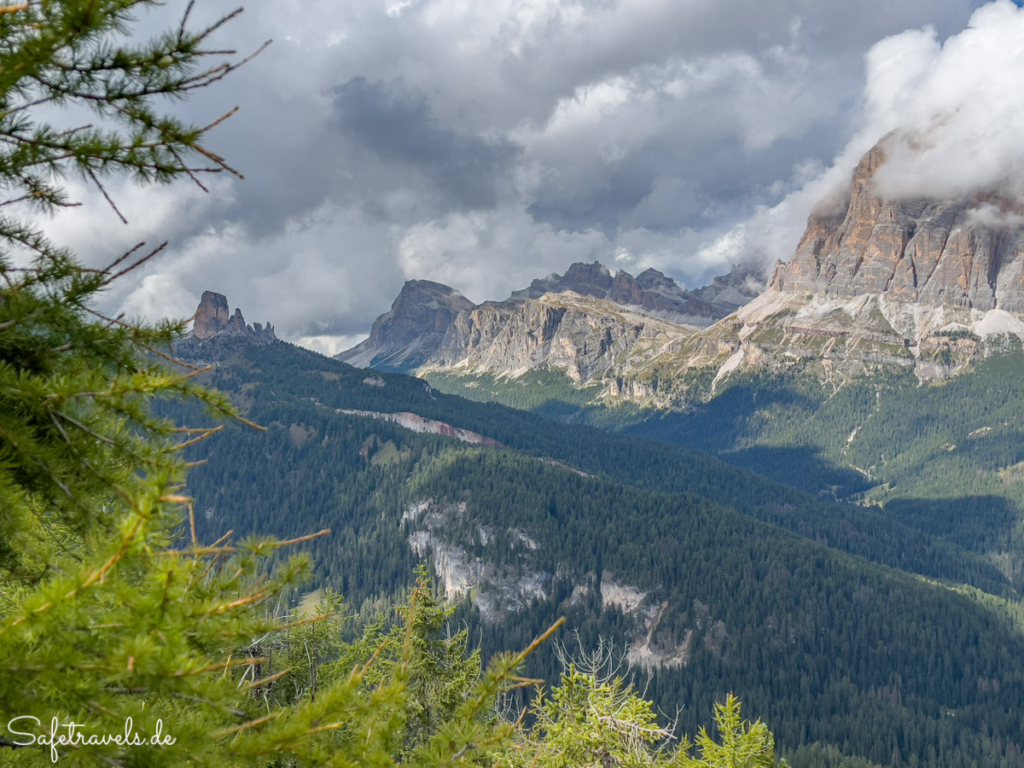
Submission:
[[[196,384],[200,369],[162,351],[183,323],[95,308],[160,249],[91,269],[24,215],[73,205],[60,183],[69,174],[115,206],[111,176],[202,185],[203,174],[233,173],[203,143],[219,120],[190,125],[159,108],[242,63],[205,66],[223,54],[210,35],[234,14],[194,31],[189,3],[177,28],[132,41],[133,14],[158,4],[0,8],[0,756],[5,765],[390,765],[406,732],[409,663],[373,685],[374,658],[319,687],[314,669],[300,669],[307,695],[261,695],[292,672],[267,674],[260,640],[288,632],[270,606],[308,561],[271,564],[289,542],[200,543],[181,449],[216,428],[177,427],[151,406],[186,398],[240,417]],[[91,110],[94,125],[39,119],[53,106]],[[515,663],[473,680],[445,738],[424,737],[420,762],[490,743],[467,713],[514,684]],[[126,731],[129,743],[110,742]]]

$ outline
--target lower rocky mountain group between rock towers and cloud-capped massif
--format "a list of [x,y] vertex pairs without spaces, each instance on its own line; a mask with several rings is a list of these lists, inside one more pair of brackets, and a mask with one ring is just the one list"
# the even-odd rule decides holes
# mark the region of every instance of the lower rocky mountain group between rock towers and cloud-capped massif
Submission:
[[763,283],[756,269],[736,267],[711,286],[686,291],[655,269],[634,278],[598,262],[577,263],[506,301],[476,306],[447,286],[410,281],[370,338],[338,358],[402,373],[458,367],[517,376],[554,368],[578,384],[613,374],[609,391],[641,392],[643,386],[617,375],[643,354],[726,316]]

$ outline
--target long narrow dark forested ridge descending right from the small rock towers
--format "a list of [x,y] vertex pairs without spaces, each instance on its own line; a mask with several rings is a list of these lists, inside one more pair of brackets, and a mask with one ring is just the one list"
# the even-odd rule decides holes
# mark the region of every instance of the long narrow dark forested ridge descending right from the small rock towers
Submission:
[[223,360],[212,383],[233,392],[243,406],[260,409],[253,411],[257,421],[291,423],[274,412],[286,403],[300,408],[319,403],[328,412],[414,412],[616,482],[694,494],[886,565],[973,584],[995,594],[1010,589],[989,560],[926,531],[877,510],[802,493],[691,449],[559,424],[497,403],[467,401],[411,377],[360,371],[288,344],[260,347],[217,338],[203,346],[203,354]]

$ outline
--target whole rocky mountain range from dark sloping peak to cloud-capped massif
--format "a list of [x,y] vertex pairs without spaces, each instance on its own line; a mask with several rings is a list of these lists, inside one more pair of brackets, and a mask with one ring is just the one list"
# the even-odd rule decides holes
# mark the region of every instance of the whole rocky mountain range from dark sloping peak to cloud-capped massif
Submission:
[[572,264],[501,302],[406,285],[339,359],[381,370],[516,379],[560,372],[602,398],[685,407],[737,371],[809,364],[819,378],[879,367],[941,379],[988,341],[1024,338],[1024,217],[998,194],[883,197],[890,135],[811,215],[765,278],[736,266],[696,291],[652,269]]

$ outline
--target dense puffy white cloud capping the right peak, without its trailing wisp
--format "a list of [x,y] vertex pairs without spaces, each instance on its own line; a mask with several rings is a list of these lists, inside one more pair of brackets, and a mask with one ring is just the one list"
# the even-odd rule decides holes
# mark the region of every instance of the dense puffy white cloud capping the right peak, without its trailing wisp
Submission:
[[1024,8],[996,0],[940,43],[933,29],[879,43],[867,55],[871,123],[899,129],[880,169],[893,197],[1024,194]]

